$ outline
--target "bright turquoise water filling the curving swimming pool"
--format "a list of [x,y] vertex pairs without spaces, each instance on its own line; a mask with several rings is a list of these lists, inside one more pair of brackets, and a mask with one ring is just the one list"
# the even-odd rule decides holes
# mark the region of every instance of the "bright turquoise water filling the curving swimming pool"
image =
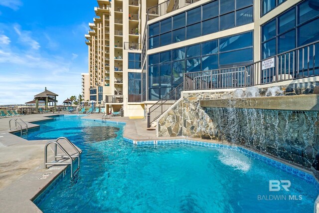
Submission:
[[[124,125],[80,116],[38,124],[39,129],[23,137],[65,136],[83,150],[76,183],[63,178],[37,203],[44,213],[311,213],[319,194],[314,184],[233,150],[136,146],[123,141]],[[290,191],[270,192],[270,180],[289,180]]]

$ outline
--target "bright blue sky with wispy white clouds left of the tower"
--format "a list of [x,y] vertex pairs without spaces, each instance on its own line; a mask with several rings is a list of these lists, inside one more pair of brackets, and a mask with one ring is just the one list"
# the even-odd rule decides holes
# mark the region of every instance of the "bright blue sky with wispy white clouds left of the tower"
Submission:
[[48,90],[58,104],[81,93],[88,72],[84,34],[96,0],[0,0],[0,105]]

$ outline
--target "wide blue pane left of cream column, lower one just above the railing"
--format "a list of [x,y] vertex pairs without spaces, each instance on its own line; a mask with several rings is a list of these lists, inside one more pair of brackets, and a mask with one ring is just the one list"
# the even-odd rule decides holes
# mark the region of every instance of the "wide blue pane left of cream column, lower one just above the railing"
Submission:
[[253,48],[241,49],[219,54],[219,64],[243,65],[243,62],[253,62]]

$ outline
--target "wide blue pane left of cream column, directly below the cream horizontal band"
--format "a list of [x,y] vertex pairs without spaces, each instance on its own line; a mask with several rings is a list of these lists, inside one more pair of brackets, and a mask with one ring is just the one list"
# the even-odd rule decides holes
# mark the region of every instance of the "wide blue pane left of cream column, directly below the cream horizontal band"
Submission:
[[249,46],[253,46],[252,31],[221,38],[219,41],[219,51],[221,52],[249,47]]

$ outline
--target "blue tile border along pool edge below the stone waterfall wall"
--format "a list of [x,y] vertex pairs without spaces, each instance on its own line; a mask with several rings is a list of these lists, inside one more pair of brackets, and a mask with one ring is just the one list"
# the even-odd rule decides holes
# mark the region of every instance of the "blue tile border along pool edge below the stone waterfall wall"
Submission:
[[189,140],[189,139],[172,139],[172,140],[150,140],[150,141],[134,141],[129,138],[123,137],[124,141],[129,142],[131,144],[136,145],[155,145],[155,144],[191,144],[196,146],[205,146],[205,147],[213,147],[213,148],[221,148],[221,149],[229,149],[234,150],[240,153],[243,153],[244,155],[248,157],[252,157],[258,160],[261,160],[265,162],[266,164],[269,164],[273,167],[279,168],[283,171],[286,171],[290,174],[293,174],[295,176],[298,176],[299,178],[306,180],[307,182],[313,183],[316,185],[317,188],[319,188],[319,183],[316,178],[310,173],[301,171],[297,168],[294,168],[292,166],[289,166],[285,163],[273,160],[269,157],[263,156],[259,153],[253,152],[251,150],[248,150],[246,148],[236,146],[236,145],[226,145],[226,144],[217,144],[217,143],[211,143],[211,142],[202,142],[202,141],[196,141],[196,140]]

